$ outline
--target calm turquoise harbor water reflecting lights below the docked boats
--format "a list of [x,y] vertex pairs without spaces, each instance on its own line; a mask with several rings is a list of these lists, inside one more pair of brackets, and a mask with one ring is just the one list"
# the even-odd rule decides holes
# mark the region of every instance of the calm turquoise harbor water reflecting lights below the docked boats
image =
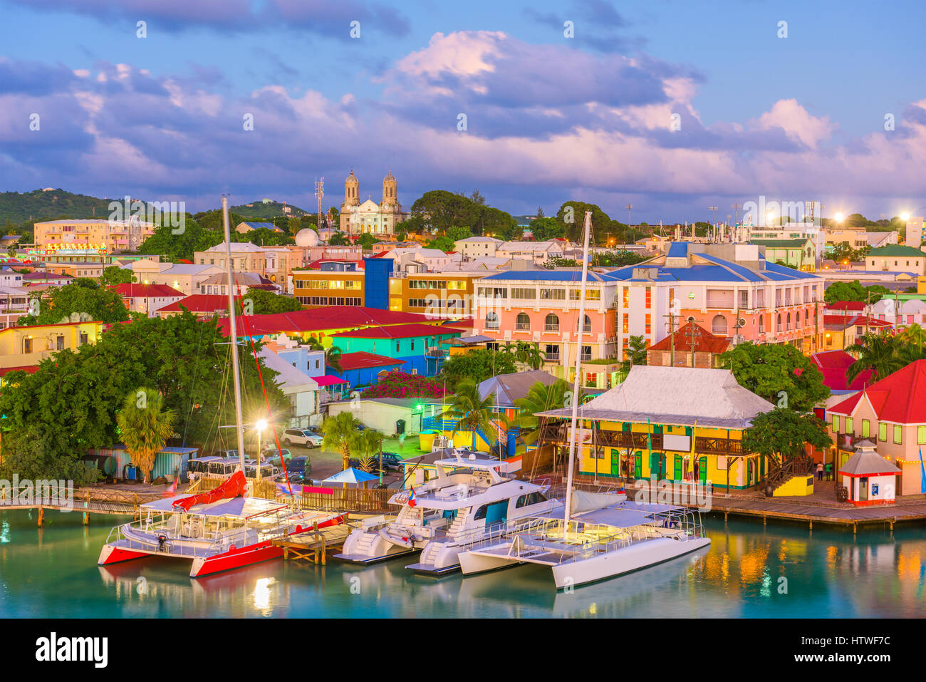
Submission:
[[3,617],[881,617],[926,615],[919,526],[851,531],[705,519],[696,554],[571,593],[549,569],[441,579],[371,566],[265,562],[191,579],[189,563],[97,566],[118,517],[0,512]]

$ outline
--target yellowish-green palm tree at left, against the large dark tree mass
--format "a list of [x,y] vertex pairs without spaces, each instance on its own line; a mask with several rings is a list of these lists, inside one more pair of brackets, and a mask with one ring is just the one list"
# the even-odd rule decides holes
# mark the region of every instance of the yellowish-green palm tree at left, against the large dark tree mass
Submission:
[[164,399],[156,391],[141,387],[130,391],[116,415],[122,442],[129,450],[131,461],[144,472],[144,482],[151,482],[155,458],[173,434],[177,415],[164,410]]

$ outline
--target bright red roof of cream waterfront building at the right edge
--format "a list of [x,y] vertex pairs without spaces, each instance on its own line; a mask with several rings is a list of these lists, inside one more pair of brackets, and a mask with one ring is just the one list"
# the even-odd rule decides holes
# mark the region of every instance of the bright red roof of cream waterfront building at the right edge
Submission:
[[827,411],[849,415],[862,398],[869,399],[879,421],[926,423],[926,360],[911,362]]

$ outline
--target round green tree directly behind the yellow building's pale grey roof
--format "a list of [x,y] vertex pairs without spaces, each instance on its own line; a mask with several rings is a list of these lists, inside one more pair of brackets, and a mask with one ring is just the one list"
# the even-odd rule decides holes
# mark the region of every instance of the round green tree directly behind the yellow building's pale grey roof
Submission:
[[720,356],[739,385],[780,407],[808,411],[830,395],[823,374],[794,346],[741,343]]

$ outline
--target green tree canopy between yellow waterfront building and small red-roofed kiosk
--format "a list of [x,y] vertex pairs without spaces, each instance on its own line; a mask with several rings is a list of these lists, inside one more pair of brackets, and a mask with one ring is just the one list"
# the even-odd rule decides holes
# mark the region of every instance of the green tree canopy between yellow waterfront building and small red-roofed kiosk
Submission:
[[743,451],[756,452],[781,464],[815,449],[832,446],[826,424],[812,412],[776,408],[758,414],[743,432]]

